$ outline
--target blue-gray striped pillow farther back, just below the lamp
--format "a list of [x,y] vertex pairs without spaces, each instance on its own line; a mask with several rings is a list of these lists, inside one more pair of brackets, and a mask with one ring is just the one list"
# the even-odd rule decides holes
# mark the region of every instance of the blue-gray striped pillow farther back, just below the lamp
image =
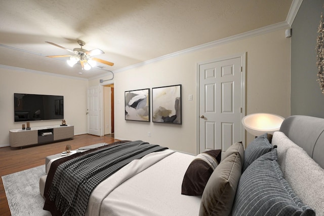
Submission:
[[250,166],[250,164],[252,164],[252,162],[258,159],[261,155],[264,155],[272,150],[273,146],[270,144],[267,137],[267,133],[258,136],[246,148],[244,152],[244,164],[242,172],[244,172],[248,166]]

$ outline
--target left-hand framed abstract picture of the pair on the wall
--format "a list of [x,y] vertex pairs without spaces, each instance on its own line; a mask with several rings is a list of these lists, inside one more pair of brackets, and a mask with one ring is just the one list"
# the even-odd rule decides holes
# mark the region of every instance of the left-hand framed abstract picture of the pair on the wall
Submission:
[[125,91],[125,120],[150,121],[150,89]]

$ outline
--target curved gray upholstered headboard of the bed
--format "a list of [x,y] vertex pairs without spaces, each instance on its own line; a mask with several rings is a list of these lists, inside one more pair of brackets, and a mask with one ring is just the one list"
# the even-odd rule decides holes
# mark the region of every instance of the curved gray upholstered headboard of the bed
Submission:
[[280,131],[303,148],[324,169],[324,119],[290,116],[282,122]]

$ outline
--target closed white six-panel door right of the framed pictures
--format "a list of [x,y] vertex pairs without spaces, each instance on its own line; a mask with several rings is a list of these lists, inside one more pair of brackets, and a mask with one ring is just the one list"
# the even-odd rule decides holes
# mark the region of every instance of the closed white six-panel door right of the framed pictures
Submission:
[[198,65],[199,153],[243,141],[245,54]]

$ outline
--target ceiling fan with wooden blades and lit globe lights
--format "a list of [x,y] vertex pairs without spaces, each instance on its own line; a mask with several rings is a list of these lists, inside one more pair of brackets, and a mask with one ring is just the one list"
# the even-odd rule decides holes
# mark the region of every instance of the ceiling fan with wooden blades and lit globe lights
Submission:
[[91,67],[96,66],[97,62],[107,64],[107,65],[110,65],[110,66],[113,65],[112,62],[105,61],[105,60],[102,60],[100,58],[92,57],[94,55],[104,54],[104,52],[102,50],[100,50],[100,49],[94,49],[94,50],[90,50],[90,51],[83,49],[82,47],[86,45],[86,43],[84,41],[77,41],[77,43],[81,46],[81,48],[74,48],[73,50],[67,49],[65,47],[54,44],[52,42],[46,41],[46,43],[52,44],[52,45],[54,45],[56,47],[62,48],[64,50],[67,50],[67,51],[73,53],[74,55],[50,55],[50,56],[46,56],[46,57],[50,57],[50,58],[70,57],[70,59],[67,60],[66,62],[71,67],[73,67],[73,65],[76,64],[78,61],[80,61],[82,69],[85,69],[85,70],[90,70]]

